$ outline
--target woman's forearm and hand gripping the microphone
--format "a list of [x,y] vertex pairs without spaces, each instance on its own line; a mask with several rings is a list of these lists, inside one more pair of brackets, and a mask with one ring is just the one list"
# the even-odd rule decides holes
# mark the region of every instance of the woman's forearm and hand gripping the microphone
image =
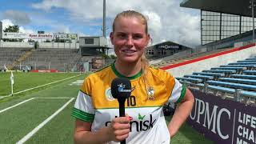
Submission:
[[110,141],[122,141],[128,138],[130,132],[129,117],[114,118],[110,126],[96,132],[91,132],[91,123],[79,119],[75,121],[74,143],[99,144]]

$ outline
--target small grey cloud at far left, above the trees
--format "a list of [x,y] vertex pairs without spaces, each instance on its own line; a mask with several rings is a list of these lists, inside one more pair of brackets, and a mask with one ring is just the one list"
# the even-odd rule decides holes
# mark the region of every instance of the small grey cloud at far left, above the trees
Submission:
[[15,24],[26,25],[31,22],[30,17],[26,12],[18,10],[6,10],[3,12],[3,18],[12,20]]

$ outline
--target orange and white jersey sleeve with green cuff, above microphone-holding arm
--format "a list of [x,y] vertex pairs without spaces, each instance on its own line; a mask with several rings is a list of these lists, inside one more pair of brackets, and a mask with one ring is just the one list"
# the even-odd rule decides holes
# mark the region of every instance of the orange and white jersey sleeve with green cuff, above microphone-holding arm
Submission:
[[74,118],[78,118],[84,122],[94,121],[95,111],[90,96],[90,88],[90,80],[86,79],[82,84],[81,90],[78,92],[78,97],[74,103],[74,108],[71,114]]

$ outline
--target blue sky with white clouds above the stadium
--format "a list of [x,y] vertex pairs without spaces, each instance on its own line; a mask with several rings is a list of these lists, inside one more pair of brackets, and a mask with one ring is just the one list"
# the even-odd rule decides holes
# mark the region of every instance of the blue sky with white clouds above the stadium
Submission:
[[[116,14],[137,10],[148,18],[152,44],[177,42],[200,45],[200,10],[180,7],[182,0],[106,0],[106,35]],[[1,0],[3,29],[20,26],[20,32],[72,33],[102,36],[103,0]]]

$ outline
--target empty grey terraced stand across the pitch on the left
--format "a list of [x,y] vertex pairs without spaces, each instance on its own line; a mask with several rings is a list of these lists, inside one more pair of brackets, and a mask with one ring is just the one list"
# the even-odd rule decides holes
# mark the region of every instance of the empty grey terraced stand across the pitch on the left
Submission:
[[0,65],[10,70],[22,70],[22,67],[32,67],[32,70],[70,71],[81,58],[79,49],[50,48],[0,48]]

